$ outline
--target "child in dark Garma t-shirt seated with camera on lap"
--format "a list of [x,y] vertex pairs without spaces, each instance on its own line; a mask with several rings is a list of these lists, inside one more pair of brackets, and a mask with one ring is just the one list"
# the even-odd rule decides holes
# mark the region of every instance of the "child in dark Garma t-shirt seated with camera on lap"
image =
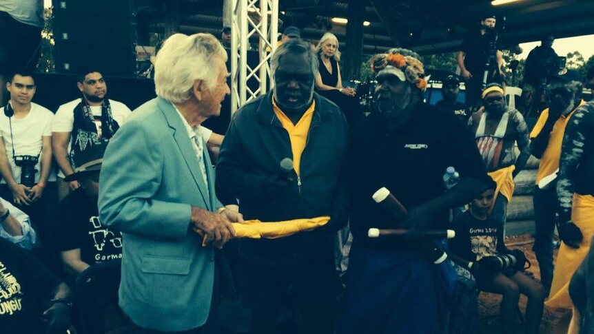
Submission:
[[515,332],[515,310],[520,293],[526,295],[526,334],[536,334],[542,318],[544,291],[540,283],[522,272],[526,262],[524,254],[506,249],[503,229],[489,215],[495,187],[495,182],[491,182],[489,189],[470,203],[470,209],[453,220],[452,259],[473,273],[481,291],[503,295],[502,333]]

